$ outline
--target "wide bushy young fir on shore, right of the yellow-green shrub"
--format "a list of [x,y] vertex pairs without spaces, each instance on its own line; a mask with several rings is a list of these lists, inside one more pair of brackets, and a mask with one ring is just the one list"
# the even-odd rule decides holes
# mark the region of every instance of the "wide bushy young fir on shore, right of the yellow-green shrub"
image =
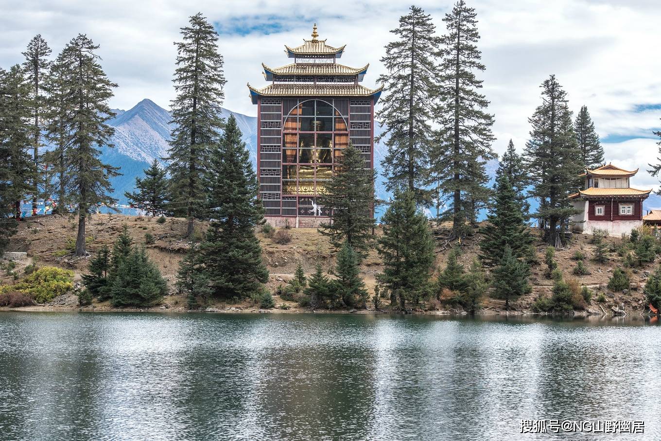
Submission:
[[144,247],[134,247],[120,263],[110,294],[114,306],[151,306],[167,294],[167,282]]

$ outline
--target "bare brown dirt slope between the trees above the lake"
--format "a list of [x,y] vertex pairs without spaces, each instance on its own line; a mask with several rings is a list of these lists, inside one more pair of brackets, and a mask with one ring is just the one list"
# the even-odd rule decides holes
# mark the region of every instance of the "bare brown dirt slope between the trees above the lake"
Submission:
[[[165,223],[157,223],[156,218],[122,216],[118,214],[97,214],[91,217],[87,223],[87,250],[89,253],[95,253],[102,245],[112,247],[116,238],[126,225],[128,232],[134,239],[134,243],[143,243],[147,249],[149,257],[159,266],[163,276],[173,286],[178,269],[178,262],[189,249],[191,243],[184,239],[186,231],[186,220],[181,218],[168,218]],[[204,223],[196,224],[195,236],[201,238],[206,226]],[[444,232],[444,227],[432,228],[435,235],[440,237]],[[80,274],[87,270],[89,259],[73,259],[71,251],[77,232],[77,220],[70,216],[38,216],[34,219],[28,219],[20,224],[19,231],[11,239],[7,251],[24,251],[28,253],[28,261],[19,262],[16,271],[21,272],[22,268],[32,260],[39,265],[54,265],[73,270],[75,280],[80,279]],[[381,229],[377,228],[377,235],[381,234]],[[331,270],[334,266],[334,252],[326,237],[319,234],[315,228],[292,228],[289,230],[292,241],[287,245],[274,243],[272,239],[266,237],[263,233],[257,233],[263,250],[264,262],[270,272],[268,288],[273,292],[278,284],[284,284],[293,277],[293,272],[300,262],[306,273],[314,271],[315,265],[321,263],[324,270]],[[147,244],[146,236],[153,237],[153,243]],[[621,265],[621,258],[615,253],[608,255],[609,261],[599,264],[592,260],[594,256],[594,245],[591,245],[590,235],[574,235],[572,243],[566,248],[557,250],[555,259],[559,268],[563,271],[565,278],[576,278],[582,285],[589,286],[595,296],[604,293],[607,301],[596,303],[594,300],[588,309],[589,313],[602,313],[602,308],[610,312],[612,305],[625,305],[625,309],[631,313],[639,313],[644,309],[644,294],[642,294],[642,284],[656,264],[648,264],[642,268],[633,271],[632,288],[627,294],[611,294],[605,290],[612,270]],[[480,235],[476,234],[461,244],[461,255],[459,262],[466,268],[479,254]],[[621,239],[609,238],[607,241],[614,241],[619,244]],[[445,241],[438,240],[436,248],[436,271],[442,270],[447,260],[447,255],[451,246]],[[545,278],[544,253],[545,245],[538,241],[535,243],[537,250],[537,259],[539,265],[533,266],[530,278],[533,292],[523,296],[514,302],[512,307],[519,312],[528,312],[532,302],[539,294],[547,293],[550,296],[552,281]],[[573,276],[572,269],[576,261],[572,260],[574,253],[580,250],[586,255],[584,263],[591,274],[586,276]],[[369,256],[362,264],[363,276],[371,294],[375,285],[375,276],[382,270],[381,261],[376,251],[371,251]],[[4,283],[13,283],[4,272],[2,273]],[[280,305],[288,305],[290,309],[282,309]],[[184,311],[186,301],[172,290],[171,295],[167,296],[163,305],[153,307],[154,310],[169,309],[173,311]],[[276,311],[297,313],[303,310],[290,301],[284,301],[276,297]],[[486,298],[483,301],[485,313],[501,313],[504,301],[492,298]],[[56,299],[53,304],[32,307],[32,309],[73,309],[75,298]],[[95,303],[89,309],[110,310],[112,307],[106,303]],[[258,311],[249,301],[242,303],[226,303],[216,301],[210,305],[210,311]],[[323,311],[318,311],[323,312]],[[336,311],[335,311],[336,312]],[[460,311],[457,311],[460,312]]]

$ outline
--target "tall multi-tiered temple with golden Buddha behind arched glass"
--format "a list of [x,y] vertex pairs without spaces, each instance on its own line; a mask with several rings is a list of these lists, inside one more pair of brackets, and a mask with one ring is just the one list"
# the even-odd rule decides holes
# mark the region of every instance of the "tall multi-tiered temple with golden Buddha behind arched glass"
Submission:
[[285,52],[293,63],[264,67],[270,84],[248,85],[257,104],[259,197],[272,225],[316,226],[329,216],[321,204],[325,182],[349,143],[373,168],[374,104],[381,88],[360,84],[368,70],[337,62],[344,46],[311,40]]

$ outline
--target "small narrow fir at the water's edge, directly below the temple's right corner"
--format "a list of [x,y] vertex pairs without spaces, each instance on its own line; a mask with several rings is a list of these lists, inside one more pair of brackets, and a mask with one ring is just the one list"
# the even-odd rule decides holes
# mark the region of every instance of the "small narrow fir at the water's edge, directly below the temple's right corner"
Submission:
[[342,305],[349,307],[367,307],[368,292],[365,282],[360,276],[358,256],[348,242],[345,242],[336,257],[333,274],[337,277],[332,281],[331,290]]

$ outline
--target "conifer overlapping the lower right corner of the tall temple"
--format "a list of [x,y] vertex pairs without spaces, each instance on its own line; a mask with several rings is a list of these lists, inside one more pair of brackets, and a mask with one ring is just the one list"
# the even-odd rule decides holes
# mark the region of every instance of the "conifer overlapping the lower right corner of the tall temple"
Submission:
[[346,241],[361,259],[365,257],[375,225],[374,171],[365,168],[362,154],[353,145],[342,152],[321,201],[331,211],[331,221],[322,223],[319,232],[329,236],[336,249]]

